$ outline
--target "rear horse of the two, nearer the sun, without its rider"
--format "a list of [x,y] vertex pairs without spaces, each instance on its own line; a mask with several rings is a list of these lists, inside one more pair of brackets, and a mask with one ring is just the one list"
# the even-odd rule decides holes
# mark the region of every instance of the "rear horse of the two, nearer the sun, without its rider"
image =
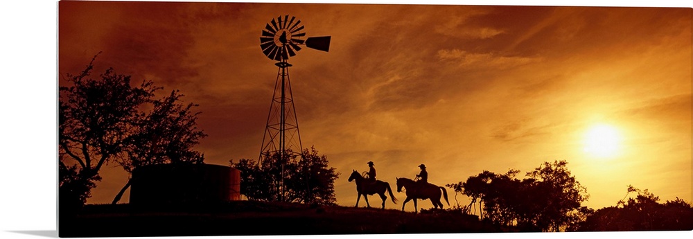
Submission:
[[438,207],[440,207],[440,209],[443,209],[443,204],[440,202],[441,191],[443,191],[445,202],[447,202],[448,206],[450,206],[450,202],[448,202],[448,191],[446,191],[444,187],[429,183],[421,184],[420,182],[416,182],[412,179],[407,179],[404,177],[398,177],[396,179],[398,193],[402,191],[402,188],[407,189],[407,199],[404,200],[404,202],[402,203],[402,211],[404,211],[404,205],[406,205],[407,202],[409,202],[409,200],[414,200],[414,213],[418,213],[418,211],[416,210],[417,199],[430,199],[433,203],[433,206],[436,209]]

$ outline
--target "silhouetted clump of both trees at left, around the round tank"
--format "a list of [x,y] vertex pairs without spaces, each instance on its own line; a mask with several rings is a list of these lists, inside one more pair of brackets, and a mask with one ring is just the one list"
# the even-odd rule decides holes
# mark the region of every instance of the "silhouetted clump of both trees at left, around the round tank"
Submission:
[[[197,113],[189,113],[194,105],[180,107],[178,91],[152,100],[161,87],[147,80],[133,86],[130,76],[112,68],[91,78],[94,60],[96,56],[79,75],[67,74],[66,86],[59,88],[58,193],[66,210],[85,204],[100,181],[99,170],[113,161],[128,171],[148,163],[202,161],[202,155],[190,148],[205,136],[195,128]],[[152,112],[143,112],[146,107]],[[164,156],[159,151],[147,154],[146,148],[165,148]]]

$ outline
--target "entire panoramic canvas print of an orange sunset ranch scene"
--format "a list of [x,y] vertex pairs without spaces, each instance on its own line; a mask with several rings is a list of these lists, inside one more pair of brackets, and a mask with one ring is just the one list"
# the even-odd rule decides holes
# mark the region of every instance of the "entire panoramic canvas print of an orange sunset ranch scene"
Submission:
[[59,1],[59,236],[692,230],[691,16]]

